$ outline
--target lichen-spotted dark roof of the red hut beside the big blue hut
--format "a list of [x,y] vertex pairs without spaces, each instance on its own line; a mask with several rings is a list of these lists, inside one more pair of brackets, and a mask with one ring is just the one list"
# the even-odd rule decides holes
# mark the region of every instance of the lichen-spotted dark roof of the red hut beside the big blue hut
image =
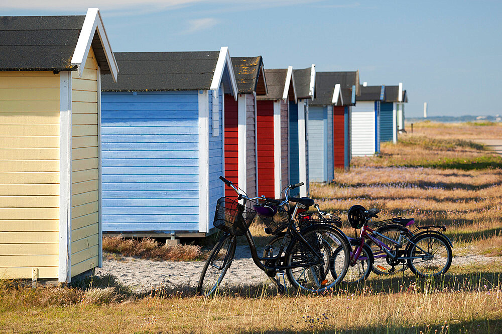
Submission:
[[266,95],[266,82],[263,68],[262,56],[258,57],[231,57],[235,81],[239,94]]

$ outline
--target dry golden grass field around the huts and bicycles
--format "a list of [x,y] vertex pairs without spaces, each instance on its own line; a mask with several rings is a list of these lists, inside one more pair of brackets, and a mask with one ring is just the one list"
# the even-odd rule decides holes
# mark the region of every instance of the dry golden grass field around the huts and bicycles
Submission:
[[[354,158],[350,172],[312,184],[311,195],[342,217],[347,233],[353,230],[346,210],[362,204],[381,208],[383,219],[402,215],[420,225],[447,225],[455,256],[501,256],[502,161],[475,139],[502,139],[502,126],[414,124],[414,133],[400,135],[399,144],[383,144],[380,157]],[[263,226],[252,231],[259,243],[267,238]],[[204,256],[197,246],[104,245],[117,254],[159,259]],[[190,286],[136,293],[108,276],[36,289],[0,281],[0,331],[496,333],[502,332],[501,266],[496,258],[469,265],[454,258],[435,280],[417,279],[409,270],[371,275],[360,286],[342,285],[321,296],[277,295],[245,283],[214,298],[195,296]]]

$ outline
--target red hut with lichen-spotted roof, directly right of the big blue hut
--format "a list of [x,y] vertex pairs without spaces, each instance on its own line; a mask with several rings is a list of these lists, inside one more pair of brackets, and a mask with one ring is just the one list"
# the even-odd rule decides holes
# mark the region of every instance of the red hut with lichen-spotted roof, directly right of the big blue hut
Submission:
[[[232,57],[238,98],[225,94],[225,177],[249,197],[258,194],[256,97],[267,95],[262,57]],[[225,187],[225,196],[235,191]]]

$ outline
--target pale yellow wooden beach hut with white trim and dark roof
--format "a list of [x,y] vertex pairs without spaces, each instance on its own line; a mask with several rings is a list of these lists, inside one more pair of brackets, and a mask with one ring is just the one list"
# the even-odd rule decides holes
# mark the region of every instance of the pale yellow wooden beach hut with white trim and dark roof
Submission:
[[98,9],[0,17],[0,279],[70,282],[101,266]]

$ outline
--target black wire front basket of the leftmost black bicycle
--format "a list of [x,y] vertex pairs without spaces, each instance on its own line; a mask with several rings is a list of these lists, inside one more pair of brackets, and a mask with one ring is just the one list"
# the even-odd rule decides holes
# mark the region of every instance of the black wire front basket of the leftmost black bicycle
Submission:
[[255,210],[237,200],[221,197],[216,203],[213,225],[224,232],[240,236],[246,233],[255,216]]

